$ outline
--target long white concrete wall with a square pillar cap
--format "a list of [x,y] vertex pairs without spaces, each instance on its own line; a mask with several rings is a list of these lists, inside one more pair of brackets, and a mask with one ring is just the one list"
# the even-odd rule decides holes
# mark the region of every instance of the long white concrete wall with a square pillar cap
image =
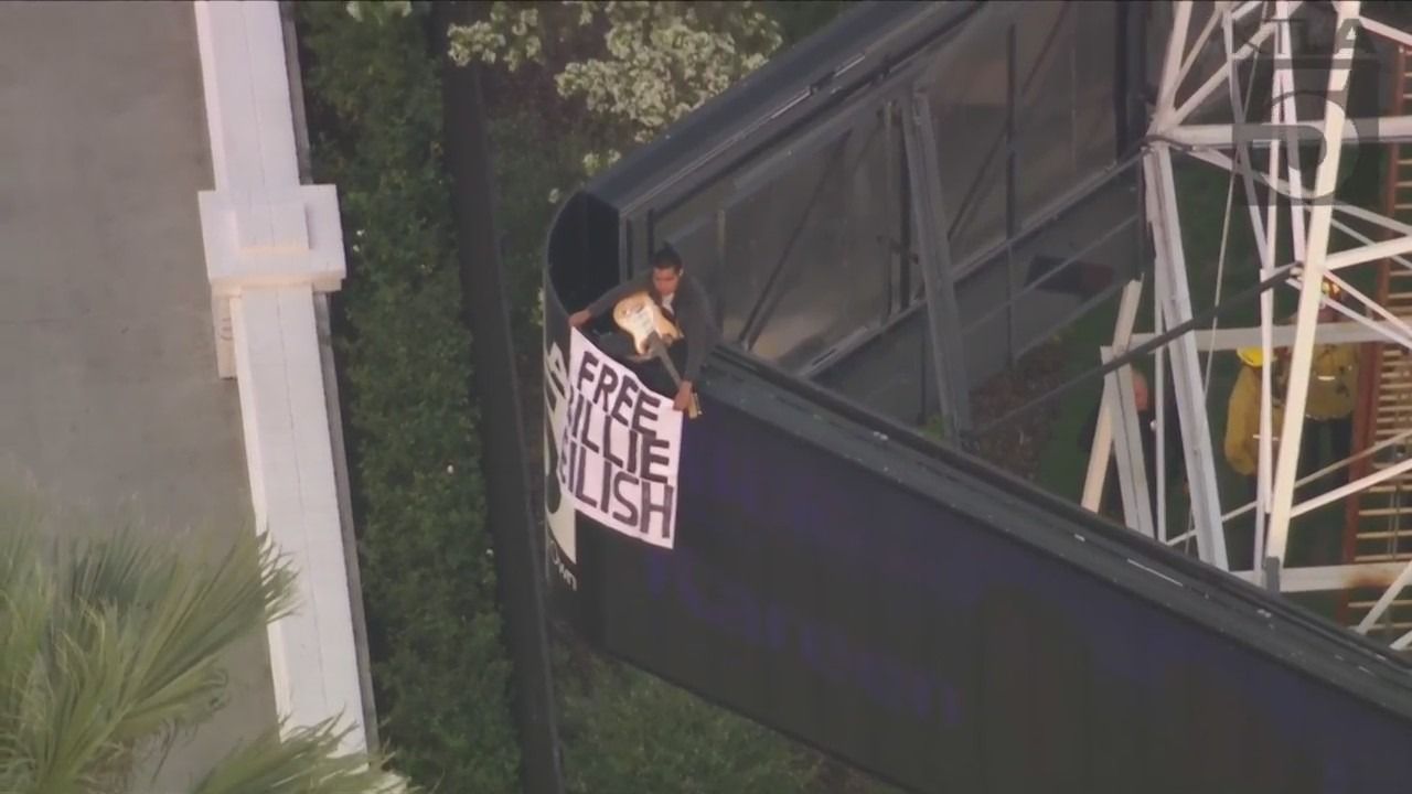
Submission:
[[[196,3],[215,189],[199,194],[222,374],[240,391],[251,506],[299,572],[299,609],[270,627],[275,705],[291,726],[342,718],[366,749],[316,295],[345,274],[337,195],[302,185],[280,7]],[[229,315],[229,331],[220,318]],[[216,369],[217,362],[213,362]]]

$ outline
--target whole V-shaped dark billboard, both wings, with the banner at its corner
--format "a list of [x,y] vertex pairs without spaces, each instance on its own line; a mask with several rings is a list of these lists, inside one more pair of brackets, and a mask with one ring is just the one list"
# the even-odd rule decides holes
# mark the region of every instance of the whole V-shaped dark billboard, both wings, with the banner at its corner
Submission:
[[[809,267],[796,275],[823,285],[820,267],[833,267],[837,285],[789,321],[832,325],[840,295],[866,287],[861,266],[839,263],[875,261],[849,246],[890,237],[880,230],[882,237],[844,239],[860,220],[843,208],[806,229],[813,242],[791,242],[805,226],[764,211],[803,208],[827,161],[803,157],[789,130],[832,141],[843,126],[827,124],[843,116],[829,103],[905,78],[908,62],[918,79],[935,78],[938,90],[964,89],[955,75],[976,71],[971,61],[955,69],[928,64],[947,41],[964,41],[957,25],[980,7],[866,4],[851,27],[772,61],[561,208],[548,246],[544,350],[555,609],[602,651],[916,793],[1401,791],[1412,780],[1408,670],[1341,629],[1316,626],[1240,582],[1219,583],[1219,575],[1097,519],[1059,514],[977,465],[905,448],[875,417],[840,415],[799,381],[767,374],[768,366],[717,356],[699,384],[700,418],[674,425],[669,413],[666,425],[634,431],[634,411],[658,407],[640,403],[641,384],[624,386],[624,373],[606,381],[592,342],[569,328],[565,302],[586,305],[645,267],[661,242],[681,244],[699,275],[716,267],[717,290],[740,292],[762,290],[784,251],[803,251]],[[1025,4],[984,7],[1034,17]],[[1125,48],[1125,11],[1113,11],[1114,47]],[[1049,38],[1042,24],[1028,31],[1036,44]],[[861,55],[858,41],[870,42]],[[980,62],[1003,52],[970,41]],[[1080,47],[1076,55],[1104,69],[1142,52],[1120,59]],[[1089,85],[1072,69],[1055,73]],[[1132,75],[1134,86],[1139,78]],[[1130,93],[1110,99],[1139,109],[1137,89]],[[973,109],[953,105],[963,110],[957,129],[974,137],[964,124]],[[1131,144],[1131,136],[1118,137]],[[860,136],[854,141],[861,147]],[[789,157],[747,160],[770,147]],[[755,203],[726,201],[765,196],[747,188],[782,178],[741,178],[761,162],[799,175],[805,188]],[[760,165],[758,174],[770,170]],[[1100,209],[1134,206],[1117,182]],[[881,195],[856,203],[881,211]],[[1056,239],[1072,236],[1066,229],[1055,226]],[[755,246],[761,240],[770,244]],[[809,253],[815,243],[818,253]],[[1137,254],[1128,251],[1104,261],[1130,263]],[[1059,256],[1038,244],[1031,253]],[[911,268],[888,278],[899,297],[916,292]],[[801,301],[792,284],[784,287]],[[740,300],[743,318],[757,298]],[[963,309],[995,308],[983,294],[973,298]],[[976,333],[971,349],[988,350],[994,339]],[[874,365],[915,362],[922,349],[908,342],[905,350],[914,348],[871,357],[849,370],[849,381],[880,384],[875,405],[909,413],[907,405],[926,401],[926,377],[902,400],[882,394],[895,389],[888,370],[897,367]],[[585,425],[576,410],[597,413]],[[668,462],[645,465],[648,438]],[[620,454],[633,449],[635,459]],[[644,523],[666,502],[665,513]]]

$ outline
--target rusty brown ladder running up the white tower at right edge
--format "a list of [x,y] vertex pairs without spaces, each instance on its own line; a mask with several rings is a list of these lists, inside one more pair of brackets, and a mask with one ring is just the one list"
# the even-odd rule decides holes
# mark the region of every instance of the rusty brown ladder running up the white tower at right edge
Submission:
[[[1412,107],[1412,48],[1396,48],[1392,113]],[[1384,181],[1384,215],[1412,222],[1412,146],[1391,144]],[[1378,264],[1378,301],[1398,316],[1412,316],[1412,270],[1389,260]],[[1364,348],[1361,373],[1363,398],[1354,422],[1356,448],[1387,441],[1412,429],[1412,352],[1395,343],[1370,343]],[[1388,455],[1363,458],[1354,463],[1360,478],[1396,465],[1412,449],[1394,445]],[[1412,559],[1412,472],[1372,486],[1348,500],[1343,557],[1346,562],[1406,562]],[[1357,626],[1372,609],[1387,582],[1346,591],[1343,622]],[[1392,640],[1412,630],[1412,592],[1404,592],[1370,636]]]

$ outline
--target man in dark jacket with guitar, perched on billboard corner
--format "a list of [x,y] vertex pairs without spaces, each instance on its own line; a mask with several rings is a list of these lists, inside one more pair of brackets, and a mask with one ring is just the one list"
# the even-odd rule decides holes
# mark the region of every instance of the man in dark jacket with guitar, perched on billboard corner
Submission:
[[672,343],[666,349],[672,365],[681,373],[681,384],[674,381],[666,367],[655,356],[638,356],[637,350],[633,349],[633,339],[627,333],[610,333],[597,340],[599,348],[637,372],[648,389],[672,397],[672,404],[678,411],[685,411],[692,404],[702,365],[712,348],[720,340],[720,329],[716,326],[706,291],[686,273],[682,257],[671,246],[652,256],[650,270],[609,290],[589,308],[569,315],[569,325],[582,328],[603,312],[613,311],[623,298],[637,292],[647,292],[662,316],[681,332],[681,339],[669,340]]

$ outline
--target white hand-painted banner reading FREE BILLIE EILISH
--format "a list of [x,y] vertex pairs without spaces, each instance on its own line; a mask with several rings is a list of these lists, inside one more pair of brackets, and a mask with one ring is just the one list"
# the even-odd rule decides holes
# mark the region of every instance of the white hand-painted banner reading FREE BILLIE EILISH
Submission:
[[672,548],[683,414],[578,329],[569,333],[565,383],[554,384],[563,400],[551,413],[559,490],[594,521]]

